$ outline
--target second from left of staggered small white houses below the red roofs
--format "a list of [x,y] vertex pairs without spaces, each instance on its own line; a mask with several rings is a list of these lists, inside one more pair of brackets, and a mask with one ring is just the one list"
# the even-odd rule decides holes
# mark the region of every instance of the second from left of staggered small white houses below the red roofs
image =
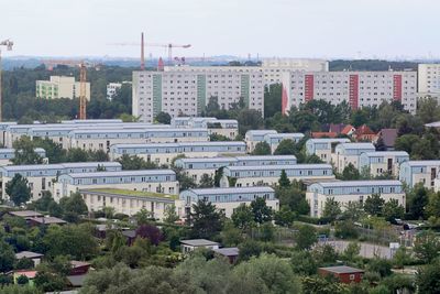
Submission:
[[361,154],[375,151],[376,149],[372,143],[341,143],[336,146],[334,153],[331,154],[331,161],[338,173],[342,173],[350,163],[359,170]]

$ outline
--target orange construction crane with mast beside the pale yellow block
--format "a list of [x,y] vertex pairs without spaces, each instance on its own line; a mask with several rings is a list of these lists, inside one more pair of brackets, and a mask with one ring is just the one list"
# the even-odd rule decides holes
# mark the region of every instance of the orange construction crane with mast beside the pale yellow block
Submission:
[[68,65],[68,66],[78,66],[79,67],[79,119],[86,119],[86,104],[87,104],[87,67],[96,67],[97,64],[88,63],[85,61],[75,61],[75,59],[44,59],[42,61],[48,70],[53,70],[56,65]]

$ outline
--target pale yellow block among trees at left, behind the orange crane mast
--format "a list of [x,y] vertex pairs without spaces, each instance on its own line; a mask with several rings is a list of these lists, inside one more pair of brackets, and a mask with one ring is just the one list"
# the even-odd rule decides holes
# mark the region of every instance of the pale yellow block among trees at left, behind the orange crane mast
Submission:
[[[36,98],[79,98],[79,81],[75,77],[51,76],[50,80],[36,80]],[[86,83],[86,99],[90,100],[90,83]]]

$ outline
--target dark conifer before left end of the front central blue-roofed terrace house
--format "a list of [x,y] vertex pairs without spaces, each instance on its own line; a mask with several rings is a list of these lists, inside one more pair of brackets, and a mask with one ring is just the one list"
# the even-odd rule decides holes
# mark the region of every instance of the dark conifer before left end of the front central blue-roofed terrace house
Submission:
[[223,215],[217,211],[216,206],[209,202],[198,200],[193,205],[190,213],[191,230],[194,238],[210,239],[221,231]]

